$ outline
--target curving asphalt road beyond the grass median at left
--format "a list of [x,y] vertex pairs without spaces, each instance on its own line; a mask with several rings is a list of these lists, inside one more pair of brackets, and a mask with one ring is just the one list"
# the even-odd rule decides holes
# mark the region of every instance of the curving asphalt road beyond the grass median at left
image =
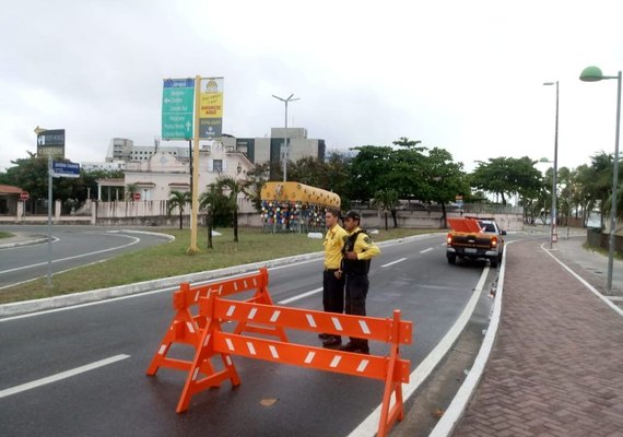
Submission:
[[[27,233],[33,239],[48,235],[47,226],[2,226],[2,231]],[[167,240],[162,235],[102,226],[52,226],[51,236],[51,258],[47,243],[0,249],[0,287]]]

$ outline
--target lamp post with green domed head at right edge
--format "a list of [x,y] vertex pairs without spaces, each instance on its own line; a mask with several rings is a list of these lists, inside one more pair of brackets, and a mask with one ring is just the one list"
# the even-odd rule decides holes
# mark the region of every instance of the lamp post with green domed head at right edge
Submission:
[[608,294],[612,294],[612,268],[614,260],[614,235],[616,229],[616,187],[619,185],[619,131],[621,126],[621,71],[618,75],[603,75],[598,67],[585,68],[579,80],[599,82],[606,79],[616,79],[616,132],[614,135],[614,164],[612,165],[612,205],[610,208],[610,240],[608,243]]

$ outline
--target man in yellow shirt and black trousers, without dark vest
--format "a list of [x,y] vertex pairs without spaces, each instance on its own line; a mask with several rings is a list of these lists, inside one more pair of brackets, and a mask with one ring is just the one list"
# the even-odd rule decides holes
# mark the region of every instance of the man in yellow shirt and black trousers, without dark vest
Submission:
[[[344,275],[341,271],[342,252],[348,234],[338,224],[340,210],[328,209],[325,214],[327,234],[325,235],[325,271],[322,272],[322,307],[327,312],[344,312]],[[324,347],[337,347],[342,344],[340,335],[321,333],[318,335]]]

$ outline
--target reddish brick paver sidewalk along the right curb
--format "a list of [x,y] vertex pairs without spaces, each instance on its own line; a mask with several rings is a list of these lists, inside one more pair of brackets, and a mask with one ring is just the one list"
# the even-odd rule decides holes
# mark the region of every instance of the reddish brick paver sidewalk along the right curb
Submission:
[[454,437],[623,437],[623,317],[541,244],[508,247],[497,340]]

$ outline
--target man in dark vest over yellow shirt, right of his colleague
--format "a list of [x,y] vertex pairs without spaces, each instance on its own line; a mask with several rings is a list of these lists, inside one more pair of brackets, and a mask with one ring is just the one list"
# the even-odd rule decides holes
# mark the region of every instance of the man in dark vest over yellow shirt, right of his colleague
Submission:
[[[367,273],[371,259],[380,253],[369,235],[360,227],[361,216],[356,211],[349,211],[344,216],[344,228],[349,233],[344,245],[342,271],[346,277],[345,311],[348,315],[365,316],[365,298],[369,287]],[[351,338],[340,346],[341,351],[369,354],[366,339]]]

